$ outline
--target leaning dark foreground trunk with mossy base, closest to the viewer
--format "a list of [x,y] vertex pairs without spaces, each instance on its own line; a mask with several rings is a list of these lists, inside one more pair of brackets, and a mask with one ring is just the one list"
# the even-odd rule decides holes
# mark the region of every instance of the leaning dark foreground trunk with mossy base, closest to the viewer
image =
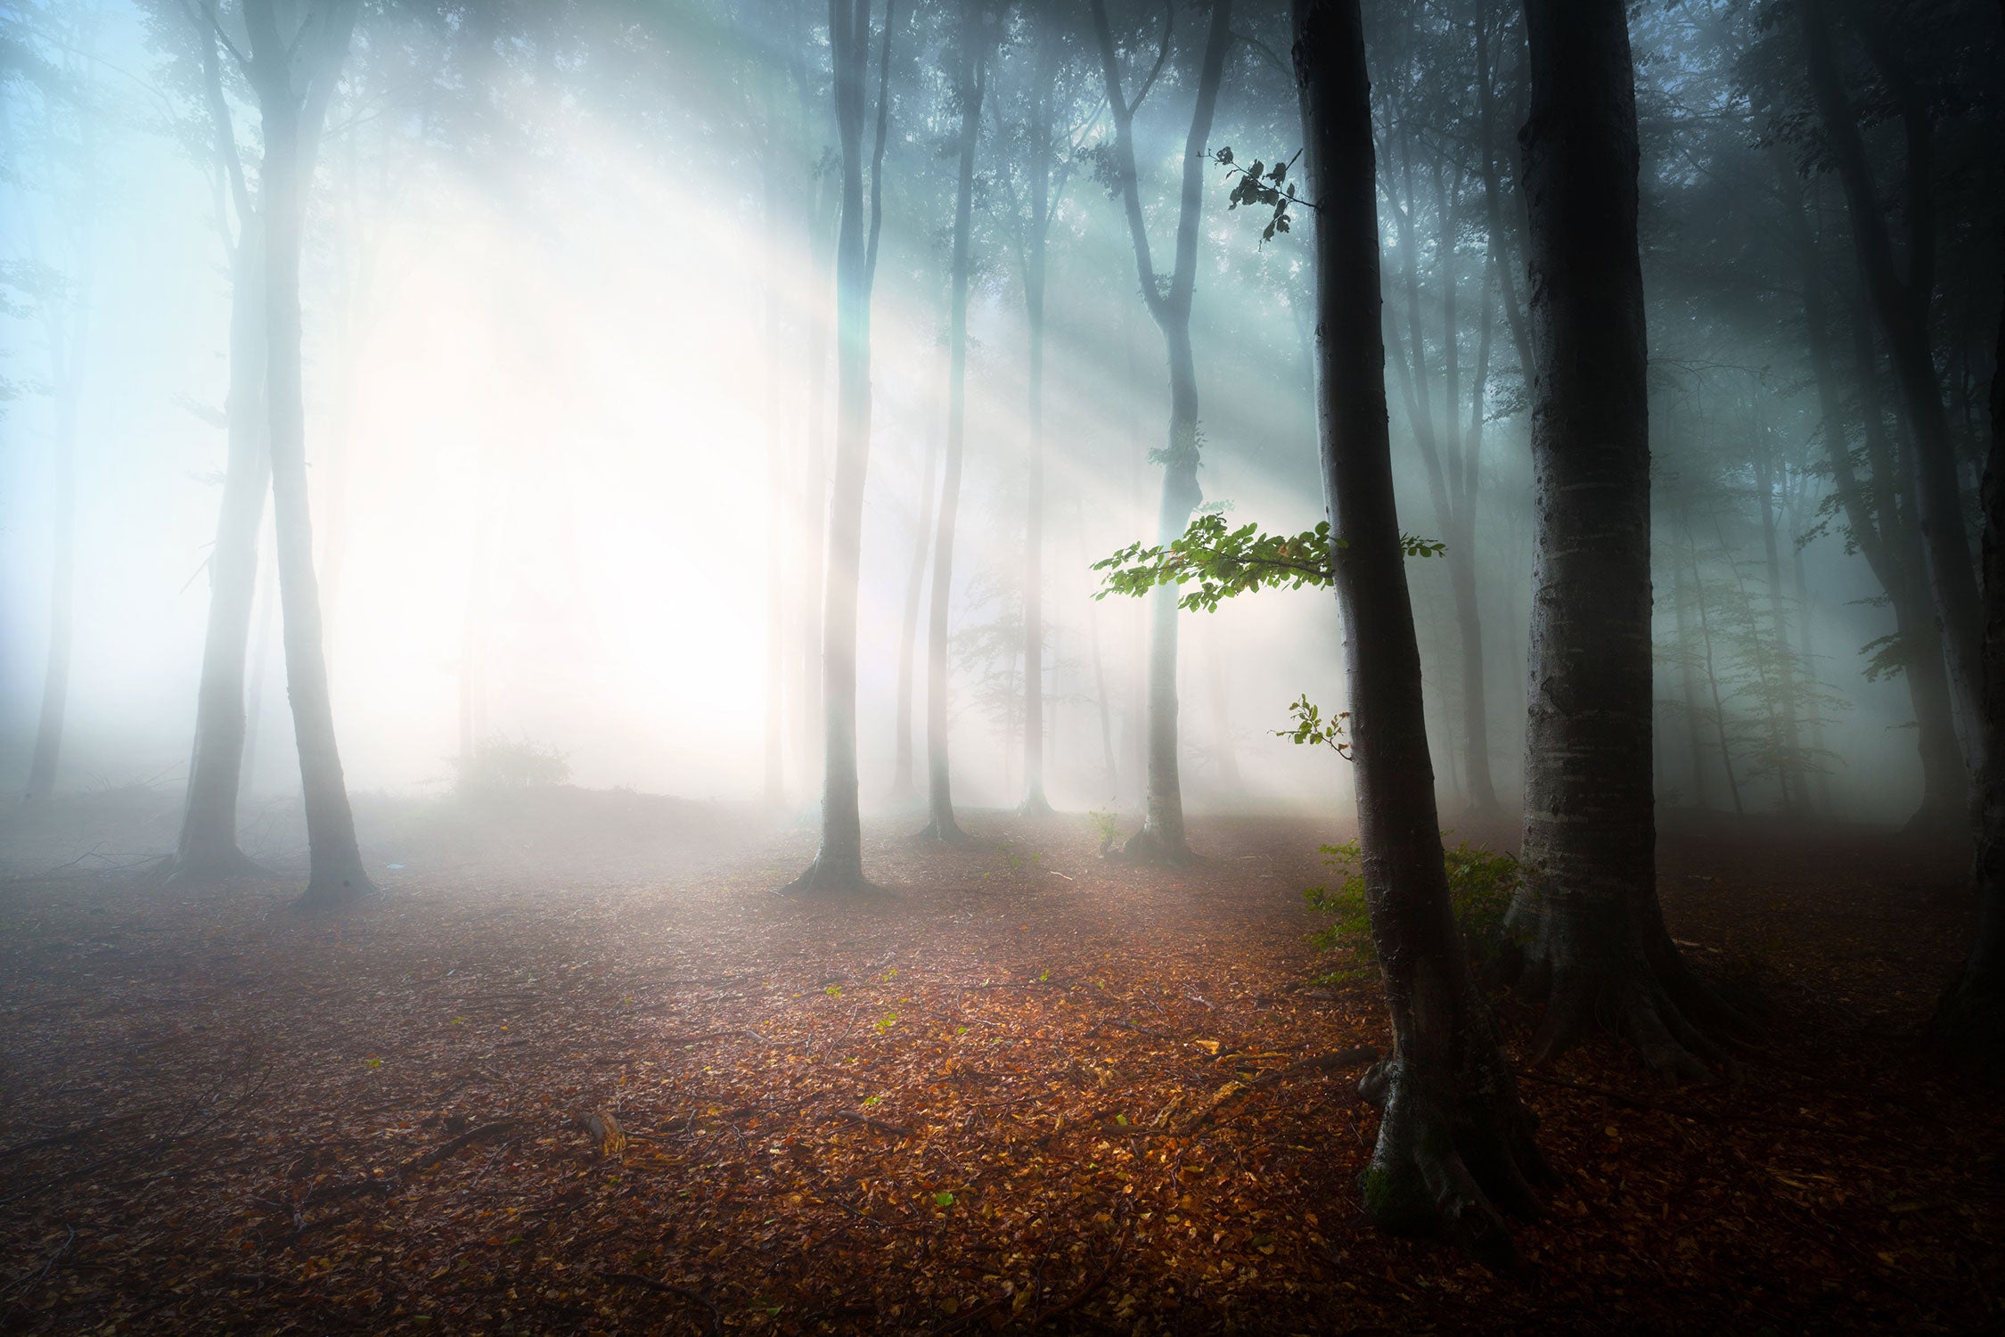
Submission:
[[1295,80],[1315,218],[1317,419],[1343,615],[1371,938],[1393,1052],[1363,1082],[1383,1108],[1361,1177],[1381,1227],[1516,1261],[1500,1209],[1548,1177],[1448,900],[1385,431],[1377,178],[1355,0],[1295,0]]

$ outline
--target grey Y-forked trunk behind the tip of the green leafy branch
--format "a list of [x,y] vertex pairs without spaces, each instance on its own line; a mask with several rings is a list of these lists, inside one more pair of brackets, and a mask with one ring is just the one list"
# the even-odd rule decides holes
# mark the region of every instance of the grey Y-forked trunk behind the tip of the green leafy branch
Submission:
[[[1169,30],[1163,30],[1163,50],[1157,56],[1155,72],[1143,80],[1135,100],[1129,102],[1121,88],[1121,58],[1107,18],[1107,0],[1093,0],[1093,32],[1101,50],[1101,74],[1107,82],[1107,110],[1115,126],[1115,174],[1129,239],[1135,245],[1135,273],[1141,279],[1143,305],[1163,333],[1163,351],[1169,361],[1169,439],[1163,449],[1163,499],[1157,509],[1159,543],[1181,537],[1191,513],[1205,499],[1197,485],[1197,359],[1191,353],[1191,299],[1197,293],[1205,140],[1211,136],[1219,84],[1225,78],[1225,52],[1233,44],[1231,8],[1231,0],[1213,0],[1211,4],[1211,26],[1197,68],[1191,130],[1183,140],[1175,263],[1165,277],[1155,269],[1149,225],[1141,206],[1141,182],[1135,170],[1135,108],[1149,94],[1163,68],[1169,54]],[[1177,770],[1177,585],[1157,585],[1149,595],[1147,758],[1149,782],[1143,824],[1123,852],[1137,860],[1177,864],[1191,858],[1191,846],[1183,834],[1183,782]]]

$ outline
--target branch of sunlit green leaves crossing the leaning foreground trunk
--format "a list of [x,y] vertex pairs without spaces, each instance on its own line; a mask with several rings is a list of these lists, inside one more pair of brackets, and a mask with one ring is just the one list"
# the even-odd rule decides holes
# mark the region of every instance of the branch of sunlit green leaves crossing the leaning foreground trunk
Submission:
[[[1187,585],[1177,607],[1217,611],[1223,599],[1251,589],[1301,589],[1331,583],[1329,553],[1343,539],[1329,537],[1329,521],[1301,533],[1263,533],[1259,525],[1231,529],[1223,515],[1197,515],[1169,543],[1129,543],[1093,563],[1105,571],[1095,599],[1111,593],[1139,597],[1157,585]],[[1446,543],[1399,535],[1408,557],[1440,557]]]

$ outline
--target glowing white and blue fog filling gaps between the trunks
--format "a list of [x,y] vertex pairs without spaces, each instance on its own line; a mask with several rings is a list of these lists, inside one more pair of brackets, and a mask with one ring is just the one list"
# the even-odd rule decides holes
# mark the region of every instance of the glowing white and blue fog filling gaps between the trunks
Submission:
[[[387,4],[361,14],[327,112],[303,259],[313,551],[351,788],[445,792],[469,740],[503,740],[555,750],[577,786],[756,800],[776,782],[786,808],[812,814],[818,804],[834,132],[820,72],[826,16],[768,8]],[[1053,802],[1073,810],[1133,810],[1143,788],[1145,609],[1141,599],[1095,601],[1091,563],[1155,539],[1161,467],[1151,451],[1163,443],[1169,385],[1121,204],[1097,156],[1111,118],[1091,30],[1075,18],[1013,10],[998,20],[976,148],[966,475],[950,601],[952,774],[960,802],[974,806],[1013,806],[1025,784],[1027,168],[1011,152],[1027,154],[1023,116],[1047,24],[1063,32],[1055,96],[1071,144],[1055,150],[1069,176],[1051,229],[1047,301],[1047,784]],[[1155,20],[1117,18],[1133,28],[1139,80]],[[1283,20],[1241,18],[1247,42],[1227,62],[1207,148],[1269,158],[1295,150],[1291,94],[1261,50],[1285,46]],[[227,32],[235,22],[223,16]],[[1468,541],[1492,770],[1512,802],[1532,561],[1526,379],[1486,261],[1470,98],[1458,90],[1412,102],[1428,90],[1430,62],[1464,38],[1436,18],[1373,22],[1387,50],[1408,52],[1379,74],[1385,104],[1401,108],[1381,130],[1379,174],[1387,333],[1399,363],[1389,377],[1393,455],[1401,523],[1414,533],[1446,537],[1430,509],[1414,401],[1401,395],[1412,375],[1401,287],[1410,261],[1420,265],[1428,325],[1430,417],[1470,419],[1478,325],[1490,331],[1480,509]],[[1788,772],[1815,786],[1825,814],[1903,820],[1921,796],[1915,712],[1901,674],[1869,678],[1863,653],[1895,617],[1835,501],[1800,301],[1788,287],[1796,277],[1776,239],[1774,162],[1788,158],[1794,172],[1794,158],[1815,150],[1770,142],[1764,92],[1750,84],[1742,50],[1754,38],[1740,32],[1738,10],[1652,10],[1638,24],[1638,48],[1652,52],[1640,66],[1640,104],[1658,804],[1730,806],[1716,688],[1740,806],[1776,808]],[[1716,32],[1722,24],[1734,26],[1730,38]],[[1195,18],[1177,28],[1135,122],[1159,267],[1169,265],[1199,38]],[[186,782],[194,732],[205,561],[229,457],[225,239],[241,229],[200,100],[207,32],[172,2],[66,2],[16,8],[6,40],[22,58],[6,84],[0,220],[12,285],[0,321],[12,395],[0,421],[0,774],[20,784],[36,738],[58,475],[70,451],[74,647],[56,790],[140,784],[170,794]],[[896,16],[860,563],[866,804],[880,804],[892,784],[906,581],[946,413],[958,124],[950,42],[948,20],[930,10]],[[1500,98],[1512,100],[1522,78],[1516,28],[1500,42]],[[255,96],[229,54],[223,76],[255,184]],[[874,80],[872,48],[872,98]],[[1987,116],[1981,104],[1957,122],[1961,138],[1939,164],[1951,188],[1977,146],[1995,142],[1985,138],[1995,128]],[[1510,130],[1498,138],[1508,190]],[[1851,321],[1845,295],[1857,283],[1843,200],[1815,160],[1807,170],[1798,188],[1815,227],[1831,233],[1821,273]],[[1323,513],[1307,251],[1291,235],[1261,243],[1251,210],[1225,208],[1227,190],[1225,172],[1209,168],[1193,303],[1199,483],[1233,525],[1305,529]],[[1448,265],[1444,198],[1454,212]],[[1981,208],[1995,206],[1989,196]],[[1508,200],[1506,216],[1518,214]],[[1981,343],[1995,303],[1993,261],[1995,229],[1959,220],[1945,237],[1939,311],[1965,331],[1965,349]],[[1452,405],[1440,343],[1448,283],[1462,289],[1462,397]],[[1522,275],[1516,287],[1522,301]],[[1855,399],[1851,339],[1837,343],[1841,395]],[[1985,417],[1969,365],[1983,363],[1983,349],[1945,359],[1945,385],[1965,397],[1959,439],[1975,459]],[[1885,401],[1899,435],[1891,389]],[[1752,463],[1756,443],[1770,461],[1766,479]],[[1778,533],[1774,589],[1764,499]],[[247,798],[285,798],[299,790],[299,760],[269,511],[265,527],[247,651]],[[1454,814],[1468,802],[1468,774],[1448,563],[1414,561],[1412,579],[1438,788]],[[1678,629],[1688,589],[1710,595],[1712,678],[1698,700],[1688,607]],[[1792,645],[1774,643],[1778,611]],[[920,607],[920,754],[924,633]],[[1343,708],[1341,629],[1327,593],[1279,591],[1183,613],[1181,633],[1189,802],[1347,802],[1343,762],[1277,736],[1301,694]],[[1800,752],[1780,762],[1782,698],[1764,674],[1790,676],[1784,696],[1804,732],[1790,744]],[[776,776],[766,762],[774,710]],[[1706,738],[1694,744],[1700,724]]]

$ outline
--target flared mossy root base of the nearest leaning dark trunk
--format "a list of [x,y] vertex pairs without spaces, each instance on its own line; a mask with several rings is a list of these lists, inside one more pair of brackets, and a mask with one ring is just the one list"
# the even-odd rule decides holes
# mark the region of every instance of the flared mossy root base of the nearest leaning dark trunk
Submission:
[[1464,1074],[1458,1098],[1397,1054],[1381,1058],[1357,1092],[1383,1110],[1371,1165],[1357,1177],[1365,1215],[1393,1235],[1442,1239],[1486,1267],[1516,1271],[1506,1213],[1536,1219],[1534,1185],[1554,1175],[1534,1141],[1538,1117],[1518,1102],[1508,1072]]

